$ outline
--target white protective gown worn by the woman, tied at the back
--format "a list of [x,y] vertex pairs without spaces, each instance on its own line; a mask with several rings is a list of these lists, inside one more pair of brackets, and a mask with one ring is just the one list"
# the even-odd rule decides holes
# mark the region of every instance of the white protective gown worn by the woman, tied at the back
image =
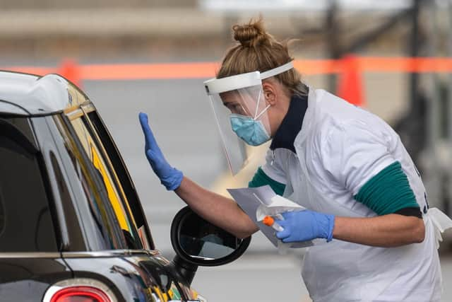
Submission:
[[399,161],[425,223],[424,241],[400,248],[334,239],[310,248],[302,277],[311,298],[315,302],[440,301],[439,230],[451,227],[452,221],[438,209],[428,210],[424,185],[398,134],[376,115],[311,88],[294,145],[297,153],[269,151],[262,167],[270,178],[286,185],[284,197],[321,213],[376,216],[353,196],[383,168]]

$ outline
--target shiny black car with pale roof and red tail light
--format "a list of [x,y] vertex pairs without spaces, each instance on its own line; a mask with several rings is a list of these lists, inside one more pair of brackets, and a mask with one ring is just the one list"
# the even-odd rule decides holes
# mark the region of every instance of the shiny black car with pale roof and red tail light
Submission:
[[198,265],[237,259],[194,214],[172,223],[169,262],[95,106],[66,79],[0,71],[0,301],[205,301]]

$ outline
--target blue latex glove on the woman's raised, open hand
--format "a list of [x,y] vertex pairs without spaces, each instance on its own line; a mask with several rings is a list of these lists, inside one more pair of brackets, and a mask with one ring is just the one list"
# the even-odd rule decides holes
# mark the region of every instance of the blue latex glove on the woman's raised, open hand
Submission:
[[139,119],[145,139],[144,151],[150,166],[167,190],[176,190],[179,185],[181,185],[184,175],[176,168],[172,168],[165,159],[165,156],[163,156],[162,151],[160,151],[160,148],[157,145],[157,141],[155,141],[154,134],[149,127],[148,115],[140,112]]

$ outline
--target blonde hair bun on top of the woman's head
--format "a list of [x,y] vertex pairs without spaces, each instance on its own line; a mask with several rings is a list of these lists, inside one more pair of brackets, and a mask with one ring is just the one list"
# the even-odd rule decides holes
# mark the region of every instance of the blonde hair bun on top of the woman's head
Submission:
[[269,35],[263,28],[263,21],[250,21],[248,24],[232,26],[234,40],[240,42],[243,47],[256,47],[268,41]]

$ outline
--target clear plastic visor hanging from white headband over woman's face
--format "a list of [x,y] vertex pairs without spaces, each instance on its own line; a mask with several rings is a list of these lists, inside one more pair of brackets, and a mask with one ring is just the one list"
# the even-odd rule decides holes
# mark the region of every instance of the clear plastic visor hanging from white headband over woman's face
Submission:
[[262,85],[239,88],[233,91],[209,95],[220,137],[225,148],[227,163],[233,175],[236,175],[248,161],[246,146],[232,130],[231,115],[251,117],[262,123],[270,135],[268,103],[263,95]]

